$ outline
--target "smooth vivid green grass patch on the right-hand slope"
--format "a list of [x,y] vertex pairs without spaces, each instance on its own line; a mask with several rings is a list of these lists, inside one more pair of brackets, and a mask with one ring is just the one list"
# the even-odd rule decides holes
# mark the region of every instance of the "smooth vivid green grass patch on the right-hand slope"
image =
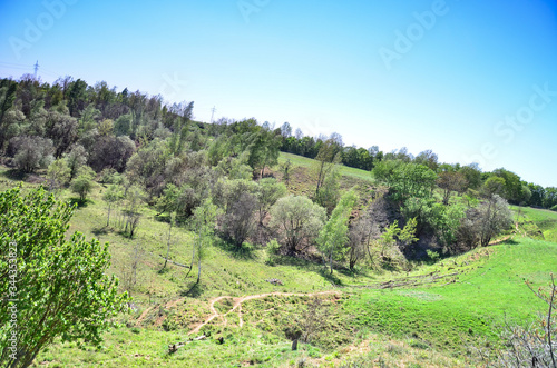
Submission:
[[[527,288],[548,282],[556,270],[557,245],[520,238],[494,246],[489,258],[443,287],[364,291],[351,300],[362,324],[393,336],[414,336],[437,348],[458,350],[465,339],[497,339],[497,324],[505,315],[530,318],[544,307]],[[457,263],[478,251],[460,256]],[[443,260],[448,267],[449,260]]]

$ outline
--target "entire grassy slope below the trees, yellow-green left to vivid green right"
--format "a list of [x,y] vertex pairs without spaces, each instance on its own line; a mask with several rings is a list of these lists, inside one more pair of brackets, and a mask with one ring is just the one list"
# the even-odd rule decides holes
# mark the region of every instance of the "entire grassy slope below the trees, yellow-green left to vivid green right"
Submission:
[[[304,159],[305,160],[305,159]],[[14,185],[0,169],[0,189]],[[30,185],[27,185],[29,187]],[[168,227],[153,219],[154,212],[145,209],[137,237],[124,238],[117,228],[106,228],[106,212],[101,186],[96,186],[91,200],[78,209],[71,220],[70,231],[80,230],[87,238],[99,237],[110,242],[111,272],[121,277],[130,263],[131,248],[140,243],[144,256],[139,263],[138,281],[133,290],[139,311],[121,316],[130,327],[120,327],[106,334],[106,348],[101,351],[79,350],[75,344],[55,345],[42,352],[37,362],[48,366],[234,366],[258,362],[263,366],[294,365],[301,358],[313,364],[336,366],[341,361],[383,361],[408,364],[460,366],[466,360],[460,337],[477,342],[487,337],[495,341],[497,322],[507,314],[510,318],[525,319],[540,307],[524,285],[529,279],[535,285],[547,281],[549,271],[557,265],[557,245],[517,238],[488,249],[478,249],[456,259],[446,259],[432,266],[423,266],[412,275],[433,271],[461,275],[446,286],[418,287],[394,290],[343,289],[344,298],[331,308],[333,316],[321,347],[303,345],[299,351],[290,350],[290,342],[282,329],[295,322],[304,298],[275,297],[268,300],[251,300],[243,306],[246,325],[221,321],[203,331],[225,337],[223,346],[213,338],[192,342],[174,356],[166,354],[168,344],[183,341],[189,328],[209,314],[207,300],[219,295],[244,296],[268,291],[304,291],[332,289],[330,279],[320,272],[319,265],[304,261],[265,263],[264,248],[255,247],[238,255],[223,246],[207,250],[202,273],[203,287],[197,294],[182,297],[192,285],[192,276],[185,280],[185,270],[169,266],[168,272],[158,273],[163,260],[157,256],[166,252]],[[62,192],[61,197],[70,198]],[[528,216],[544,222],[553,212],[529,210]],[[547,228],[551,233],[554,229]],[[173,231],[173,259],[188,263],[192,237],[184,229]],[[467,263],[465,263],[465,261]],[[194,269],[195,273],[196,269]],[[356,278],[335,272],[335,282],[343,285],[377,285],[404,275],[359,275]],[[267,278],[280,278],[284,286],[273,286]],[[450,281],[451,279],[447,279]],[[172,300],[182,298],[179,304]],[[138,327],[135,320],[146,309],[146,318]],[[262,324],[263,322],[263,324]],[[237,325],[237,324],[236,324]],[[164,331],[163,329],[170,331]],[[383,334],[391,336],[385,337]],[[332,338],[332,340],[331,340]],[[457,357],[451,357],[456,355]]]

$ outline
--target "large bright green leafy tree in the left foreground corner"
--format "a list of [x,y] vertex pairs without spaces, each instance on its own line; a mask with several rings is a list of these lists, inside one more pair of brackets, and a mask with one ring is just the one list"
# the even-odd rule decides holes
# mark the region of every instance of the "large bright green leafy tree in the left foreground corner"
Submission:
[[108,243],[86,241],[79,232],[67,238],[74,210],[43,189],[0,193],[0,242],[6,245],[0,248],[0,289],[9,292],[0,301],[0,361],[28,367],[56,338],[100,347],[102,332],[128,301],[117,292],[118,280],[105,273]]

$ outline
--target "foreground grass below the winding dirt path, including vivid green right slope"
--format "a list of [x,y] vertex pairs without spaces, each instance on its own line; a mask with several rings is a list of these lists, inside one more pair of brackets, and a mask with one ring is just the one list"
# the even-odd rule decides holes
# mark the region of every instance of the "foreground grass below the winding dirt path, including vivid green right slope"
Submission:
[[[556,243],[520,238],[426,266],[408,276],[384,275],[382,278],[459,272],[440,285],[382,290],[336,289],[338,294],[325,298],[329,324],[324,336],[317,346],[302,345],[299,351],[291,351],[284,328],[300,322],[307,297],[254,298],[244,301],[241,311],[232,312],[237,299],[222,299],[215,309],[223,318],[213,319],[192,336],[188,335],[192,327],[211,315],[207,302],[214,298],[205,301],[204,298],[180,298],[156,305],[147,320],[137,322],[137,318],[131,318],[128,327],[107,334],[107,348],[101,351],[81,351],[74,344],[57,345],[38,361],[87,367],[100,362],[108,367],[158,364],[170,367],[250,364],[286,367],[301,359],[329,367],[346,361],[394,364],[401,359],[414,367],[473,364],[462,341],[475,346],[489,341],[497,346],[498,326],[505,316],[515,320],[530,319],[543,304],[528,290],[524,279],[531,280],[534,286],[545,285],[555,265]],[[257,261],[252,266],[265,268]],[[282,270],[284,266],[274,269]],[[371,287],[379,285],[371,278],[367,282]],[[170,322],[185,319],[189,328]],[[172,356],[166,354],[169,344],[201,335],[211,336],[188,342]],[[224,337],[225,344],[219,345],[217,337]]]

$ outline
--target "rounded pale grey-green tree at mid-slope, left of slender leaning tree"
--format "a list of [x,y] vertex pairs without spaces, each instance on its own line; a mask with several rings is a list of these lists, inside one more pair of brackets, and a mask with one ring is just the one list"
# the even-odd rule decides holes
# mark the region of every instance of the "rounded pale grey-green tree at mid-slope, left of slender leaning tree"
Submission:
[[278,199],[270,213],[270,227],[275,230],[289,255],[303,250],[300,246],[304,243],[310,246],[326,219],[323,207],[302,196]]

